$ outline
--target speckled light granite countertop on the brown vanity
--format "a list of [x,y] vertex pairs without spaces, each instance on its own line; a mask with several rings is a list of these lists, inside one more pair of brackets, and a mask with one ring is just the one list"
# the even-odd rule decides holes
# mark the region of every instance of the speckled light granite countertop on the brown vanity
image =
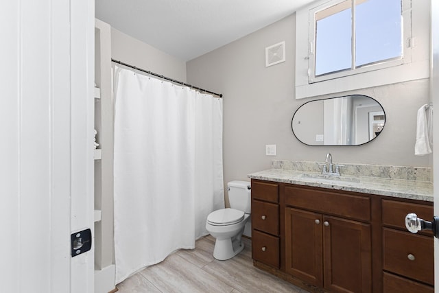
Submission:
[[302,169],[282,169],[278,167],[278,162],[276,163],[274,168],[248,174],[248,177],[280,183],[433,202],[433,184],[427,180],[355,176],[351,174],[342,174],[340,178],[334,178],[334,180],[331,180],[331,178],[322,179],[319,178],[320,172]]

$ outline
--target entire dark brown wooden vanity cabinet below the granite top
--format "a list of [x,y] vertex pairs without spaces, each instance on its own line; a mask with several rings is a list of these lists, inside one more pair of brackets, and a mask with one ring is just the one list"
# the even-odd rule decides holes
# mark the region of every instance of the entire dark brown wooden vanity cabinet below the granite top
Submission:
[[433,202],[252,179],[253,264],[310,292],[434,292]]

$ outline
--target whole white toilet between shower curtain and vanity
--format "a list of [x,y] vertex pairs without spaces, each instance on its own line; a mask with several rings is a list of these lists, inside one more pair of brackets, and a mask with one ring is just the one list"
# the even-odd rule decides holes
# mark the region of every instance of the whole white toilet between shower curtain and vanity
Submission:
[[222,261],[244,249],[241,236],[251,210],[250,182],[231,181],[227,190],[230,208],[213,211],[206,220],[206,230],[216,238],[213,257]]

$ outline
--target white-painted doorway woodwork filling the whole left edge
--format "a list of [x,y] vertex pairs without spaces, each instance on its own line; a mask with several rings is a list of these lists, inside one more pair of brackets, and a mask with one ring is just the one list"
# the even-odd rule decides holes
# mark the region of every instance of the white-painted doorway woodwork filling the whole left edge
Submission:
[[93,14],[87,0],[0,6],[1,292],[93,292],[93,249],[70,251],[72,230],[93,228]]

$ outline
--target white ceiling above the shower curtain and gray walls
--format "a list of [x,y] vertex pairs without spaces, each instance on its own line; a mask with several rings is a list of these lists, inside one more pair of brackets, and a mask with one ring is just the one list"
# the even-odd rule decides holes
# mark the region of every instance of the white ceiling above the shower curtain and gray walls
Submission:
[[314,0],[95,0],[120,32],[188,61],[292,14]]

